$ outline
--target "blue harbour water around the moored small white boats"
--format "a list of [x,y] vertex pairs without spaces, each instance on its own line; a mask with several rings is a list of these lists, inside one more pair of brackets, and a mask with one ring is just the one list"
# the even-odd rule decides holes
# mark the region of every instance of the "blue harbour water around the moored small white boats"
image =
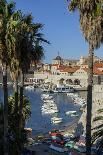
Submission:
[[[13,92],[12,88],[9,88],[9,95]],[[65,130],[66,127],[78,122],[82,112],[80,106],[74,104],[71,97],[66,93],[54,93],[52,94],[55,104],[58,109],[56,114],[44,114],[42,113],[43,100],[41,96],[43,92],[40,89],[24,90],[24,94],[30,99],[31,104],[31,117],[26,121],[25,127],[32,128],[33,134],[47,133],[53,129]],[[86,92],[79,92],[81,97],[86,98]],[[0,88],[0,100],[3,101],[3,90]],[[78,117],[67,116],[67,111],[77,111]],[[62,122],[59,124],[51,123],[52,117],[61,117]]]

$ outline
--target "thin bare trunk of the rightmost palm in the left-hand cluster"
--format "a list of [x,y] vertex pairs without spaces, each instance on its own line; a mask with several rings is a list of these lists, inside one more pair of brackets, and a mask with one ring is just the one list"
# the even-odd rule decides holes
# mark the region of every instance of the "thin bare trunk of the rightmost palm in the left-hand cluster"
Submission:
[[20,115],[20,129],[22,129],[22,111],[23,111],[23,87],[24,87],[24,74],[21,73],[21,85],[20,85],[20,111],[19,111],[19,115]]

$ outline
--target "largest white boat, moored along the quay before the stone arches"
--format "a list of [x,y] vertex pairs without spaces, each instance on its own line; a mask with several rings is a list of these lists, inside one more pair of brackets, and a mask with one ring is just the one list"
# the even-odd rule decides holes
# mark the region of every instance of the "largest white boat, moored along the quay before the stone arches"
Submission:
[[72,93],[74,88],[71,86],[59,86],[53,89],[54,93]]

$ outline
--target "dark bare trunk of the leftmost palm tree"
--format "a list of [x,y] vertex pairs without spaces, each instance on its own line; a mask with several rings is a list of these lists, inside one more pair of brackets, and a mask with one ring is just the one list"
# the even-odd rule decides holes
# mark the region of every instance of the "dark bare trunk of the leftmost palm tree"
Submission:
[[8,155],[8,88],[7,66],[3,65],[3,91],[4,91],[4,155]]

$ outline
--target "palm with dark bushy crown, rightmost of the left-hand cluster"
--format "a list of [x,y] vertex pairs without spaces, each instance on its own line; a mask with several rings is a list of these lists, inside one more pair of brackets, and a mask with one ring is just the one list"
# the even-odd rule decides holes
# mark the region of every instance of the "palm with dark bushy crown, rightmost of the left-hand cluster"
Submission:
[[16,57],[19,69],[21,71],[21,85],[20,85],[20,105],[19,105],[19,129],[22,129],[22,105],[23,105],[23,86],[24,86],[24,74],[30,68],[32,62],[37,63],[43,56],[42,42],[48,43],[39,33],[39,29],[42,28],[42,24],[33,23],[31,15],[22,16],[21,23],[19,25],[18,33],[16,36],[16,45],[14,57]]

